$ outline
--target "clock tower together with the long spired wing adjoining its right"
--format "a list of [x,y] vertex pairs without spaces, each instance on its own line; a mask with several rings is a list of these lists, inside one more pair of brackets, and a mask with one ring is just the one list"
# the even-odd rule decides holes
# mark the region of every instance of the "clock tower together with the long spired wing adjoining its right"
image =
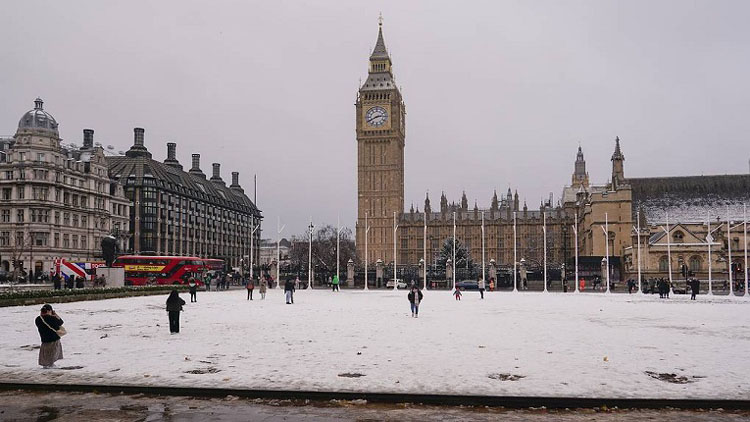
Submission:
[[[357,133],[357,255],[370,264],[378,260],[393,262],[393,239],[397,236],[399,266],[416,265],[423,255],[425,218],[427,222],[427,265],[433,266],[444,241],[453,236],[456,213],[457,238],[468,247],[475,262],[481,262],[481,215],[486,230],[486,260],[512,265],[513,220],[516,216],[518,259],[543,262],[543,223],[547,223],[548,262],[562,263],[570,254],[571,216],[551,201],[539,210],[519,207],[518,193],[492,205],[470,210],[466,197],[461,205],[451,204],[443,196],[440,210],[433,212],[429,197],[424,212],[404,212],[404,148],[406,109],[396,86],[390,55],[383,40],[382,24],[370,55],[368,77],[360,87],[356,101]],[[394,223],[398,230],[394,233]],[[366,230],[369,230],[367,235]],[[365,238],[367,237],[367,246]],[[367,255],[365,255],[367,249]]]

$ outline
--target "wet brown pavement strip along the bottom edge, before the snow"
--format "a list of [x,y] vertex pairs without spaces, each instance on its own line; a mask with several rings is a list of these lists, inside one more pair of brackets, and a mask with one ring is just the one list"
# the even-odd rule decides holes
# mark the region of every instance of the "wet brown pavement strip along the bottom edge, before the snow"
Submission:
[[0,421],[750,421],[748,411],[508,410],[359,401],[205,399],[93,393],[0,392]]

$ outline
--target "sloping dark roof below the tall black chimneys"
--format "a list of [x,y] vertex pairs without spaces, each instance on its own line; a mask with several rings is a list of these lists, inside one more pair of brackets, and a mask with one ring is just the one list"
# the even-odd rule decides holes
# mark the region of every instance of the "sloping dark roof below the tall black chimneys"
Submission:
[[[129,185],[155,185],[163,190],[193,197],[196,200],[215,203],[236,211],[252,213],[262,218],[260,210],[239,189],[223,183],[213,183],[203,177],[185,172],[146,156],[107,157],[109,176],[126,188]],[[153,180],[144,183],[144,180]]]

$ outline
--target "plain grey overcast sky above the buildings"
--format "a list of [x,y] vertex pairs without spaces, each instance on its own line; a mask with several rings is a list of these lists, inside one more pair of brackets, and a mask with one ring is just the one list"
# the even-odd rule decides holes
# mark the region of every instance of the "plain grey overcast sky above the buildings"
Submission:
[[222,164],[264,237],[310,216],[353,227],[354,100],[384,16],[407,107],[406,207],[518,189],[536,209],[570,182],[580,143],[606,182],[748,172],[750,2],[5,1],[0,134],[41,96],[65,142]]

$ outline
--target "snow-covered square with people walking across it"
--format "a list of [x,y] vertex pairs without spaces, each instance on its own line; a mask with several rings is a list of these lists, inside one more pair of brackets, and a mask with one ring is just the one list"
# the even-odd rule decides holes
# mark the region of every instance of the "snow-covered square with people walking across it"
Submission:
[[[256,291],[257,293],[257,291]],[[54,305],[65,359],[36,365],[39,306],[0,309],[0,379],[581,397],[750,397],[750,301],[626,294],[199,292]],[[191,373],[198,372],[198,373]],[[649,375],[649,373],[651,375]],[[357,376],[360,374],[361,376]],[[667,380],[662,377],[674,378]],[[677,383],[683,382],[683,383]]]

